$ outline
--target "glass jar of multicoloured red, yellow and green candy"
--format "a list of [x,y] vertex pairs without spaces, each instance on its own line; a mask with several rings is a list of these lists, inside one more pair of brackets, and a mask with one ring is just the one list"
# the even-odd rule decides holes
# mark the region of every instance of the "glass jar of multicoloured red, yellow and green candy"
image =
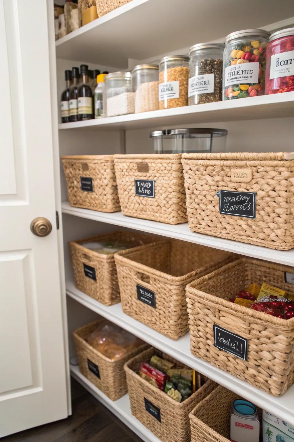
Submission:
[[269,32],[245,29],[227,36],[223,53],[223,100],[264,94]]

